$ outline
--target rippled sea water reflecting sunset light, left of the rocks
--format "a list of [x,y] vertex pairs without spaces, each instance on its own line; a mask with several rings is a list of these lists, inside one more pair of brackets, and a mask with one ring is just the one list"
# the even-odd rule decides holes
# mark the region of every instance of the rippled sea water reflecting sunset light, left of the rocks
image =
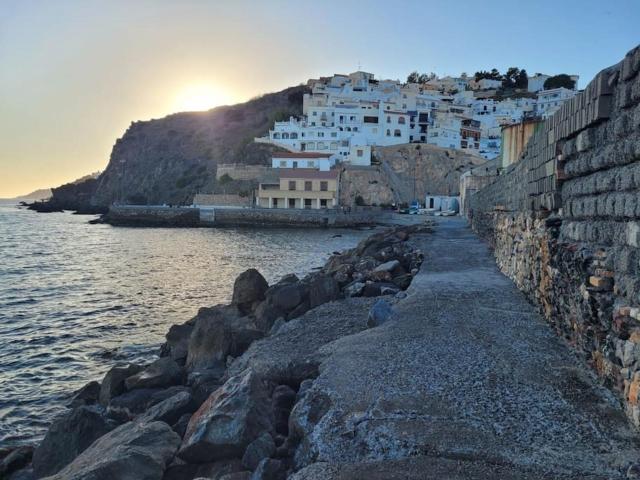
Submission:
[[[0,205],[0,446],[33,443],[69,393],[149,359],[249,267],[305,274],[370,232],[114,228]],[[340,235],[340,236],[336,236]]]

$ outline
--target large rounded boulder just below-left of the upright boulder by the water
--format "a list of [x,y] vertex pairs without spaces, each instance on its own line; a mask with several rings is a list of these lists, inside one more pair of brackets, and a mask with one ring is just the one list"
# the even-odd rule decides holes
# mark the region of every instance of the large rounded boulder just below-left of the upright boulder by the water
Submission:
[[237,357],[264,334],[233,306],[219,305],[198,318],[189,339],[187,368],[203,369]]

